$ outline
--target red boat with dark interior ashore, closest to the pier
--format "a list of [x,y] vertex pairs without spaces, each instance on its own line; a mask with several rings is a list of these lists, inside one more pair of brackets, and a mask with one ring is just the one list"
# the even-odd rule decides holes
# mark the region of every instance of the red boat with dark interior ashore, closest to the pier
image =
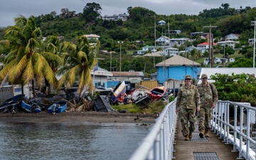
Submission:
[[161,98],[168,99],[168,93],[166,92],[166,87],[164,86],[152,88],[149,90],[148,95],[153,101],[159,100]]

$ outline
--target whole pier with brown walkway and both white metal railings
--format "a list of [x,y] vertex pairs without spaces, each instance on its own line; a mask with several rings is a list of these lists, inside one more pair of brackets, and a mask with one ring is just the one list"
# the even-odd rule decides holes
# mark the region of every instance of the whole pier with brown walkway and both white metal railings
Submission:
[[184,141],[174,100],[164,107],[129,160],[256,160],[255,112],[249,103],[219,100],[210,137],[200,138],[197,125],[190,141]]

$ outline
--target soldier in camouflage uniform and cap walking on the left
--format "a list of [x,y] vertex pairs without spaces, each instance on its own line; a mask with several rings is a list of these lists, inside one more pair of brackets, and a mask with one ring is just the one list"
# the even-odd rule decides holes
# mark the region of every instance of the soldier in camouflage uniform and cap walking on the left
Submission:
[[186,75],[185,85],[178,88],[176,100],[176,113],[181,119],[181,132],[185,137],[185,141],[192,138],[192,132],[196,129],[196,110],[200,111],[198,89],[195,85],[191,85],[191,82],[191,75]]

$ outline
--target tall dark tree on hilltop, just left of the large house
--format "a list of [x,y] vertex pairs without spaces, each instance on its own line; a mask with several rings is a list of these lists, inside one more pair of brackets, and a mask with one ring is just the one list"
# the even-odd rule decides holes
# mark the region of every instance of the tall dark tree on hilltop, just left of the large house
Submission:
[[87,3],[83,9],[82,18],[87,22],[95,21],[97,16],[100,16],[100,11],[102,10],[100,4]]

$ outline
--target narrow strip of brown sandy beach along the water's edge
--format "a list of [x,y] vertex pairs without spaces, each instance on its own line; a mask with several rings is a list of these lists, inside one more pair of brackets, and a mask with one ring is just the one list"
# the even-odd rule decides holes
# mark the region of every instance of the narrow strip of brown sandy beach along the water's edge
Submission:
[[[136,119],[139,116],[139,119]],[[119,112],[63,112],[50,114],[46,111],[39,113],[17,112],[0,113],[0,122],[95,122],[95,123],[145,123],[152,124],[156,114],[119,113]]]

